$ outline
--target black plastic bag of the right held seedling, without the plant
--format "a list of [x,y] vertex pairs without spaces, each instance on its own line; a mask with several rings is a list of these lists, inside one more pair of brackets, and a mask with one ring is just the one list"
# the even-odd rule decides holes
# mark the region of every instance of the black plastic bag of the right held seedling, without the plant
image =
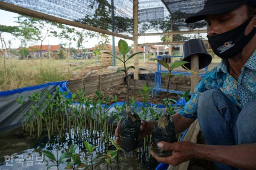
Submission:
[[[161,123],[158,121],[161,121]],[[161,150],[157,147],[157,143],[160,141],[170,143],[177,142],[174,123],[169,114],[167,116],[160,117],[160,119],[156,120],[154,123],[152,133],[152,150],[157,156],[170,156],[172,151]]]

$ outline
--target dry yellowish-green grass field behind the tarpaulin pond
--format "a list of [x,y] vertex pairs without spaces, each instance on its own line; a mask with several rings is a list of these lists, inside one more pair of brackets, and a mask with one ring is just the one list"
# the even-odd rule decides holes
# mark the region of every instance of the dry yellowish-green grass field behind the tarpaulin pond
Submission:
[[[84,67],[100,66],[101,63],[97,61],[100,60],[70,59],[70,73]],[[139,63],[143,63],[143,56],[139,57]],[[128,62],[128,66],[132,64],[133,60],[130,60]],[[11,59],[10,63],[9,60],[6,60],[7,81],[4,84],[3,59],[0,57],[0,91],[33,86],[47,82],[68,80],[68,65],[68,60],[43,59],[42,67],[40,66],[40,59]],[[116,61],[116,65],[122,66],[122,63],[120,61]],[[72,74],[70,75],[70,78],[72,78]]]

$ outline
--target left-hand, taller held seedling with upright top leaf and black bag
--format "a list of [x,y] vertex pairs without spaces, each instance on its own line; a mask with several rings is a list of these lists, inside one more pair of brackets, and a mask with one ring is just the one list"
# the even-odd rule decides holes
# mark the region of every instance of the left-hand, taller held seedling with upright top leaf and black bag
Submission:
[[[116,74],[118,72],[122,71],[125,73],[126,78],[126,86],[127,86],[127,94],[126,94],[126,114],[122,116],[121,118],[121,125],[120,125],[120,133],[119,133],[119,145],[122,149],[124,149],[126,152],[132,151],[138,147],[140,144],[140,117],[134,113],[131,114],[130,110],[130,102],[129,102],[129,85],[128,85],[128,75],[127,72],[130,68],[134,68],[134,66],[128,66],[126,68],[126,62],[130,60],[132,57],[134,57],[137,54],[144,53],[144,52],[138,52],[130,55],[126,59],[126,54],[129,53],[131,47],[128,46],[126,41],[119,40],[118,41],[118,48],[119,52],[122,54],[122,59],[119,57],[112,55],[108,52],[105,52],[106,54],[114,56],[116,59],[120,60],[124,64],[124,69],[117,70]],[[134,68],[135,69],[135,68]]]

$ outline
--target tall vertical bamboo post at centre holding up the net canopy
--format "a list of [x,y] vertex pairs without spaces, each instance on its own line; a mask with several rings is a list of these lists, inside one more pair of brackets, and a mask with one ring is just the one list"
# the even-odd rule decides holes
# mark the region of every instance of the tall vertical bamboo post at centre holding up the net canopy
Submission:
[[[133,0],[133,53],[138,53],[138,0]],[[138,55],[134,56],[134,79],[139,79]]]

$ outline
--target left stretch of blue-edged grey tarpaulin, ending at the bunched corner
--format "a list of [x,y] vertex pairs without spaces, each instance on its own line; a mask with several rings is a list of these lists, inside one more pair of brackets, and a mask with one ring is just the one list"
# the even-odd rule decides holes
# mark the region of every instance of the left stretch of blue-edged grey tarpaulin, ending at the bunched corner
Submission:
[[[46,98],[46,95],[44,94],[46,90],[49,91],[49,94],[53,94],[58,86],[60,92],[65,92],[68,90],[66,84],[68,84],[68,81],[50,82],[0,92],[0,131],[3,130],[3,128],[21,123],[21,106],[16,101],[17,98],[23,96],[25,104],[22,106],[22,110],[23,113],[26,113],[32,105],[36,105],[35,102],[28,99],[28,96],[31,96],[33,93],[41,92],[40,102],[42,102],[44,101],[44,98]],[[68,96],[70,95],[71,93],[68,94]],[[52,95],[52,97],[54,96]]]

